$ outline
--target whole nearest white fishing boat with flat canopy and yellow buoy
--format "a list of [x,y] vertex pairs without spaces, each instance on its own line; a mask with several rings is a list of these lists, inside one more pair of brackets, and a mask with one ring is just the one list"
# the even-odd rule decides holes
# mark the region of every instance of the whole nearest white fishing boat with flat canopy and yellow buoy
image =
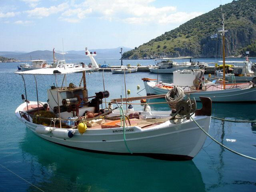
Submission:
[[[109,108],[101,108],[102,99],[108,98],[109,92],[102,91],[88,97],[86,70],[82,70],[83,86],[82,82],[79,86],[72,83],[63,85],[72,70],[48,68],[16,72],[24,80],[25,93],[28,93],[24,78],[26,75],[33,75],[36,81],[38,75],[51,74],[55,76],[53,83],[56,83],[47,90],[47,102],[28,101],[27,95],[23,95],[24,102],[15,112],[17,118],[45,140],[90,152],[191,160],[200,151],[206,134],[193,119],[203,130],[209,131],[212,107],[209,98],[202,98],[202,109],[196,109],[196,103],[190,99],[185,103],[182,98],[176,100],[178,104],[172,108],[176,113],[171,115],[170,111],[153,112],[149,106],[142,111],[124,112],[122,104],[118,104],[141,97],[114,99],[111,102],[113,105],[116,103],[116,107],[111,108],[109,105]],[[64,79],[59,86],[57,77],[61,75]],[[36,83],[36,98],[37,90]],[[89,101],[90,98],[92,100]]]

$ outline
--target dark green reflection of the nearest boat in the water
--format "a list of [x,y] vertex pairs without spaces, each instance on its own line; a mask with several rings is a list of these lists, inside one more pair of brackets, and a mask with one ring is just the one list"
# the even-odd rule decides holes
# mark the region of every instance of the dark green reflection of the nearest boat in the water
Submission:
[[50,143],[28,129],[20,146],[33,184],[44,191],[205,191],[193,161],[83,152]]

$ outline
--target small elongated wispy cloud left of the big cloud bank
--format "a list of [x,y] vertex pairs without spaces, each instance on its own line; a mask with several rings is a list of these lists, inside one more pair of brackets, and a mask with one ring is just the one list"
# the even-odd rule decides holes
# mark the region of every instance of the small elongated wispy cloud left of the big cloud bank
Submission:
[[34,8],[33,10],[25,11],[25,13],[28,13],[28,16],[30,17],[36,17],[36,18],[43,18],[48,17],[51,14],[57,14],[58,12],[62,12],[66,10],[69,7],[68,3],[62,3],[58,6],[50,6],[49,8],[45,7],[39,7]]

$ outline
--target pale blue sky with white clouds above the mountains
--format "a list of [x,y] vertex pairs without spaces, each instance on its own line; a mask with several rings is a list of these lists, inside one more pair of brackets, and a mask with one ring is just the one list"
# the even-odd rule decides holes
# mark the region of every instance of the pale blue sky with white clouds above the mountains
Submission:
[[232,0],[0,0],[0,51],[134,48]]

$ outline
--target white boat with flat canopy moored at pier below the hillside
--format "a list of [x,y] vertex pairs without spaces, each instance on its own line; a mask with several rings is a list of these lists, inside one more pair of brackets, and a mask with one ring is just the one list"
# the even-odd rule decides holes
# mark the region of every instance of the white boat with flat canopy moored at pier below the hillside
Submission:
[[200,64],[192,62],[176,62],[174,60],[188,59],[192,57],[160,58],[155,60],[156,65],[150,66],[152,73],[173,73],[176,70],[199,69]]

